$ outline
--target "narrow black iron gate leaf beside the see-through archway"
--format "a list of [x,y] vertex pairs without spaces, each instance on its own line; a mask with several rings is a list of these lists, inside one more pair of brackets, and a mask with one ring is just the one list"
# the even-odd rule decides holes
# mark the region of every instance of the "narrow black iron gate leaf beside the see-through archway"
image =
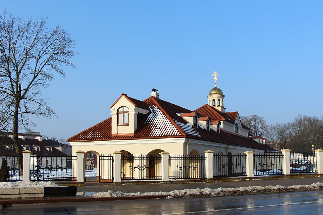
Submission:
[[113,156],[99,156],[99,183],[113,183]]

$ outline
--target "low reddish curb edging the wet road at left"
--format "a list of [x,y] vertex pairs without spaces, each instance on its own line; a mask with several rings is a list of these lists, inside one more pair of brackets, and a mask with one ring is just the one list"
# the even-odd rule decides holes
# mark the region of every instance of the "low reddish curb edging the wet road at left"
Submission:
[[166,198],[168,195],[157,196],[123,196],[123,197],[81,197],[70,199],[13,199],[13,200],[0,200],[0,204],[39,204],[39,203],[59,203],[59,202],[90,202],[90,201],[119,201],[119,200],[137,200],[137,199],[161,199]]

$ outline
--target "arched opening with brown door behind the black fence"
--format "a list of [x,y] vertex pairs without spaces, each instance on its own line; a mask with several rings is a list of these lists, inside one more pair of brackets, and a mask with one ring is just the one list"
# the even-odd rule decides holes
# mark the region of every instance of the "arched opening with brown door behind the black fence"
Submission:
[[147,154],[146,176],[148,178],[161,178],[161,155],[159,154],[161,152],[164,152],[164,150],[154,149]]

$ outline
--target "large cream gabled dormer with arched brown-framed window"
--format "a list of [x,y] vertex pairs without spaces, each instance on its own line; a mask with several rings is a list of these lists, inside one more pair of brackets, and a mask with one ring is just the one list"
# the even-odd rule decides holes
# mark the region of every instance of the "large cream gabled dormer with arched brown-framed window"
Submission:
[[111,135],[133,135],[138,124],[150,112],[147,103],[122,93],[111,107]]

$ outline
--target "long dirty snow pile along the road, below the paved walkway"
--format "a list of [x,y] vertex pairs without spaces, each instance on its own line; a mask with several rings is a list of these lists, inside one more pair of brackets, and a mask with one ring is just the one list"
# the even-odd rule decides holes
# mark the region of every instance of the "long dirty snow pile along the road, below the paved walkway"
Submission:
[[294,186],[252,186],[240,188],[217,188],[217,189],[184,189],[174,190],[171,192],[147,192],[147,193],[124,193],[121,191],[113,192],[99,192],[90,197],[122,197],[122,196],[156,196],[156,195],[169,195],[172,198],[197,198],[197,197],[221,197],[221,196],[239,196],[261,193],[281,193],[291,191],[305,191],[305,190],[320,190],[323,189],[323,183],[314,183],[310,185],[294,185]]

